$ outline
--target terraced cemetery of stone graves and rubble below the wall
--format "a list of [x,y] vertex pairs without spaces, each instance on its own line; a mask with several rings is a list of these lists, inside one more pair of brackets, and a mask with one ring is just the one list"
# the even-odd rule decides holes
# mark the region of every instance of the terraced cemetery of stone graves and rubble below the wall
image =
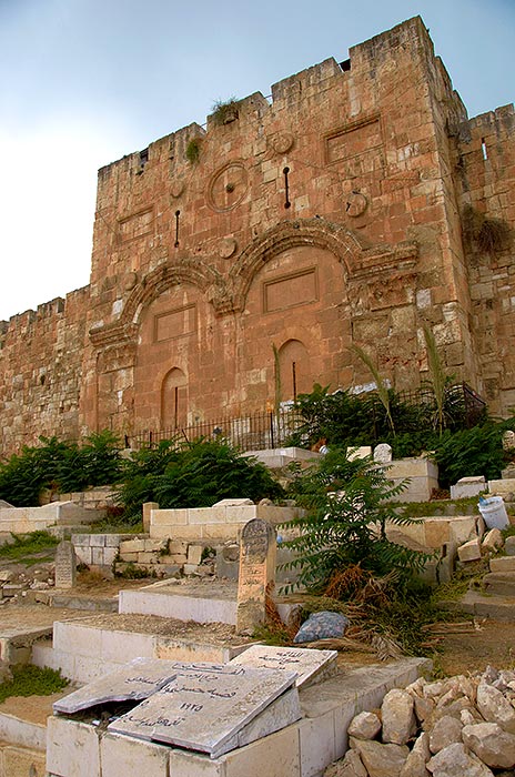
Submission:
[[[424,581],[448,583],[456,569],[488,564],[481,588],[442,603],[472,618],[451,620],[451,632],[481,629],[488,617],[515,620],[515,543],[504,531],[515,493],[509,466],[497,480],[460,478],[452,500],[431,502],[435,463],[393,460],[387,444],[350,448],[343,460],[335,451],[295,447],[259,457],[275,476],[296,461],[304,483],[324,467],[346,466],[351,490],[353,477],[368,473],[392,500],[384,512],[363,496],[366,519],[383,511],[387,542],[422,554]],[[7,673],[49,667],[70,682],[48,702],[38,697],[38,720],[0,704],[1,777],[140,777],[142,769],[148,777],[445,777],[456,768],[486,777],[515,764],[515,673],[508,668],[431,680],[427,650],[415,657],[388,640],[360,643],[352,601],[346,615],[312,615],[293,638],[303,592],[314,579],[309,565],[295,562],[311,531],[301,494],[275,502],[225,496],[203,507],[148,502],[137,533],[95,531],[112,504],[109,488],[65,497],[43,507],[0,507],[0,525],[4,513],[9,527],[3,539],[8,532],[30,536],[32,525],[42,527],[32,516],[47,511],[44,528],[58,543],[52,564],[41,563],[40,579],[29,567],[24,579],[13,577],[8,563],[0,569],[2,666]],[[324,498],[329,525],[334,505],[341,515],[349,509],[345,485]],[[359,522],[362,505],[352,498]],[[424,517],[402,518],[424,504]],[[323,542],[329,557],[331,542]],[[98,575],[99,588],[102,579],[113,586],[111,595],[84,594],[85,568]],[[120,576],[134,569],[141,579]],[[330,615],[340,618],[340,630],[321,638],[320,623],[326,626]],[[317,625],[310,626],[312,619]],[[266,624],[269,632],[260,632]],[[285,629],[290,642],[267,644],[274,628]],[[300,642],[306,628],[314,630]],[[345,650],[356,645],[361,658],[349,660]]]

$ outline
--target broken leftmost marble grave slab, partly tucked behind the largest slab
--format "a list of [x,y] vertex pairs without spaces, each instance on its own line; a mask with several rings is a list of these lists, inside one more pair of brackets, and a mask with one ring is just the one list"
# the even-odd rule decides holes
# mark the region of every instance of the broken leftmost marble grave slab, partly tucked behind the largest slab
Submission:
[[130,664],[54,702],[53,712],[72,715],[108,702],[142,702],[175,676],[175,662],[134,658]]

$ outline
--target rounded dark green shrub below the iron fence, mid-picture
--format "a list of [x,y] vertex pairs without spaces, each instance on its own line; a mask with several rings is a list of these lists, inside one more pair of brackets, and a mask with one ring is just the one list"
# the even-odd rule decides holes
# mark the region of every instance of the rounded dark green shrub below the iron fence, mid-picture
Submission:
[[158,502],[162,508],[210,507],[223,498],[256,502],[282,495],[262,464],[224,441],[199,438],[165,441],[134,452],[125,464],[118,502],[125,507],[125,519],[139,519],[144,502]]

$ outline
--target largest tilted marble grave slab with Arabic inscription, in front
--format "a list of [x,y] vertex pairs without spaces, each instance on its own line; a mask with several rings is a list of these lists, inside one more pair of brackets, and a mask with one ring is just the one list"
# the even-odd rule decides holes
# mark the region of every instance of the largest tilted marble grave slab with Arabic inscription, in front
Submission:
[[[296,679],[294,672],[233,664],[175,662],[173,666],[175,677],[170,683],[108,729],[216,758],[239,746],[238,734]],[[274,730],[289,723],[275,720]]]

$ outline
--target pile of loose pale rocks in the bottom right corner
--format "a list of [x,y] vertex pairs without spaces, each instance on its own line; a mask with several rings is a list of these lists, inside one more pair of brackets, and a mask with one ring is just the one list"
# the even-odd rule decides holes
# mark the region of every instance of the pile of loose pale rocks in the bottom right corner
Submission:
[[349,745],[324,777],[513,777],[515,672],[390,690],[380,710],[353,718]]

